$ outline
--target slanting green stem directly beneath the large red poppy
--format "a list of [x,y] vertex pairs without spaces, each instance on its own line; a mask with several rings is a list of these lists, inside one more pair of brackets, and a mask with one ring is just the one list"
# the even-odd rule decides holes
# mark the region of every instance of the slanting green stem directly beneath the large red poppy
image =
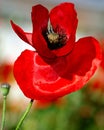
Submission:
[[29,103],[29,105],[28,105],[28,107],[27,107],[25,113],[24,113],[23,116],[21,117],[21,119],[20,119],[19,123],[17,124],[17,127],[16,127],[15,130],[19,130],[19,129],[20,129],[20,127],[21,127],[21,125],[22,125],[24,119],[26,118],[27,114],[29,113],[29,111],[30,111],[30,109],[31,109],[31,106],[32,106],[32,104],[33,104],[33,101],[34,101],[34,100],[31,100],[31,101],[30,101],[30,103]]

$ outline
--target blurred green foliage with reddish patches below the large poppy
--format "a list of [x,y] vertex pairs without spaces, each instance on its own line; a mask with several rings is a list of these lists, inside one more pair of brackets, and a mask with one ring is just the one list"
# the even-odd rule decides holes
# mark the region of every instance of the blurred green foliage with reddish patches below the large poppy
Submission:
[[[101,93],[91,91],[90,87],[87,84],[58,103],[38,106],[35,102],[21,130],[104,130],[104,100]],[[13,130],[21,112],[9,109],[9,104],[7,107],[5,130]]]

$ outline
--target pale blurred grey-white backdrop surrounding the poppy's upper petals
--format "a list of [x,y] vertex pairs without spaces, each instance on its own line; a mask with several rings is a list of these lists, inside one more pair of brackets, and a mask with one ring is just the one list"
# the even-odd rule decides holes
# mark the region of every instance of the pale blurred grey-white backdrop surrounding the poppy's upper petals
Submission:
[[[77,37],[92,35],[103,37],[104,0],[66,0],[73,2],[78,14]],[[10,19],[25,31],[31,32],[31,7],[43,4],[48,9],[64,0],[0,0],[0,58],[14,61],[25,48],[33,49],[13,32]],[[11,57],[11,59],[10,59]]]

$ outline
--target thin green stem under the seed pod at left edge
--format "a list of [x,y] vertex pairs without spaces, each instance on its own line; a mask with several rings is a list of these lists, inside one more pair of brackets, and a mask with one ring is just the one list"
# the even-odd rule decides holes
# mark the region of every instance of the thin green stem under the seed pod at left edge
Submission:
[[2,113],[1,130],[4,129],[5,125],[5,113],[6,113],[6,96],[3,96],[3,113]]

